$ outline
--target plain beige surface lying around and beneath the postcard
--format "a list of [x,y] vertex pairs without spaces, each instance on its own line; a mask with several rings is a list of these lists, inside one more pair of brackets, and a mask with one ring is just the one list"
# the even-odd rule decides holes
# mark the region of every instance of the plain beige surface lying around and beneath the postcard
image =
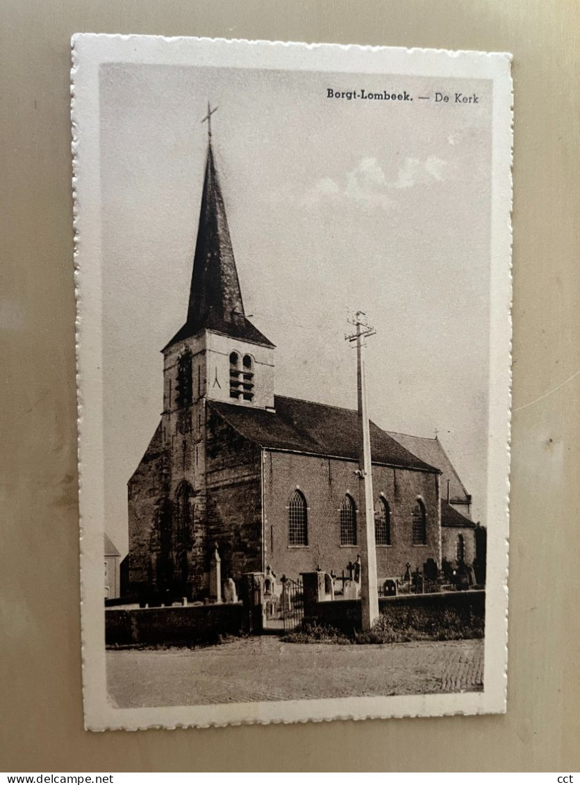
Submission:
[[[2,0],[1,5],[0,768],[578,769],[580,5],[563,0]],[[514,54],[507,715],[83,731],[68,115],[69,38],[76,31]]]

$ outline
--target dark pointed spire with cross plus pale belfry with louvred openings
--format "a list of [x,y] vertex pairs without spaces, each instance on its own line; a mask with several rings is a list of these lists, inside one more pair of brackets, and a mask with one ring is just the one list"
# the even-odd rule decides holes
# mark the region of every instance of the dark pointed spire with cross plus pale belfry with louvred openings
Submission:
[[[229,235],[226,207],[211,145],[208,105],[207,159],[200,221],[185,324],[163,349],[165,405],[206,398],[268,409],[273,407],[273,343],[254,327],[244,312]],[[185,380],[191,355],[192,378]],[[179,392],[177,386],[179,387]]]

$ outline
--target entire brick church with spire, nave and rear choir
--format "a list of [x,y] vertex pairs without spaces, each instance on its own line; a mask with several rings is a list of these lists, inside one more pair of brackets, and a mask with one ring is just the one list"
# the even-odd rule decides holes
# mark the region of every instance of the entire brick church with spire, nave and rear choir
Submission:
[[[357,559],[357,411],[277,395],[275,369],[244,313],[210,134],[189,308],[163,349],[163,412],[128,484],[131,591],[204,599],[216,545],[222,580],[236,582],[268,567],[340,574]],[[438,440],[373,422],[370,436],[380,582],[440,565],[446,528],[472,536],[461,481],[423,444]]]

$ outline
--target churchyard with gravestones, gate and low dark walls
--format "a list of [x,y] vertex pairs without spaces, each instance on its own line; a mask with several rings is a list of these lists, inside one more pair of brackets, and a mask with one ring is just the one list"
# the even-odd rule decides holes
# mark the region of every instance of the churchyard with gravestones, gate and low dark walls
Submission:
[[[388,642],[384,636],[359,635],[363,627],[361,577],[360,558],[349,563],[340,576],[319,568],[303,572],[299,580],[285,575],[278,579],[268,567],[265,573],[242,575],[238,596],[233,579],[221,579],[216,548],[211,559],[210,596],[205,601],[171,595],[126,597],[124,606],[105,609],[105,640],[109,646],[171,646],[214,644],[229,636],[278,634],[292,641],[292,633],[322,627],[358,636],[358,642]],[[378,593],[377,624],[383,630],[413,628],[417,634],[409,640],[428,640],[428,630],[433,630],[434,640],[483,636],[485,590],[475,582],[473,568],[458,564],[457,568],[447,565],[439,570],[428,560],[422,571],[411,571],[407,564],[401,578],[380,581]],[[442,623],[450,630],[442,630]],[[296,640],[305,642],[307,637]]]

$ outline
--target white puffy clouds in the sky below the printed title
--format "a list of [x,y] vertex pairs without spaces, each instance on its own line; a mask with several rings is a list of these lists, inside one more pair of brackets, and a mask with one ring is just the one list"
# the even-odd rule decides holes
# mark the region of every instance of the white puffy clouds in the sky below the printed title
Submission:
[[303,199],[305,206],[311,207],[323,202],[351,200],[366,207],[380,207],[389,210],[395,204],[392,191],[396,188],[412,188],[414,185],[446,179],[449,165],[446,161],[429,155],[423,161],[406,158],[397,176],[389,180],[376,158],[362,158],[353,170],[347,172],[341,181],[322,177]]

